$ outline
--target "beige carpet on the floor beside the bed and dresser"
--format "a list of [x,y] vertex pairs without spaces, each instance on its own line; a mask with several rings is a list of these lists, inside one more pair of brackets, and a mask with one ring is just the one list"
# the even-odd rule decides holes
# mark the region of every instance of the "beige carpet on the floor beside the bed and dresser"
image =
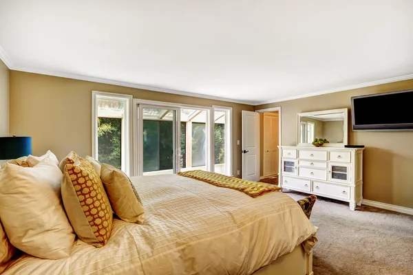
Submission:
[[353,212],[348,203],[319,197],[311,222],[319,227],[315,275],[413,274],[413,216],[370,206]]

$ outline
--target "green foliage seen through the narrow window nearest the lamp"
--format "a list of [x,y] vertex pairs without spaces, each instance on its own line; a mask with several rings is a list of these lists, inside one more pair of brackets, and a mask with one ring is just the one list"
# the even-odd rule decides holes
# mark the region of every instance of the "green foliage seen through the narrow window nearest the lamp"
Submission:
[[122,118],[98,118],[98,159],[120,169]]

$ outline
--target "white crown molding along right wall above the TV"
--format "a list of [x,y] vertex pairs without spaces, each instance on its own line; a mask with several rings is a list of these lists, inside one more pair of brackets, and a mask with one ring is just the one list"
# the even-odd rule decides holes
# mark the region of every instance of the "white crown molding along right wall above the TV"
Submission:
[[277,103],[277,102],[282,102],[282,101],[287,101],[287,100],[295,100],[299,98],[309,98],[310,96],[321,96],[324,94],[332,94],[332,93],[337,93],[339,91],[348,91],[352,89],[359,89],[359,88],[365,88],[365,87],[371,87],[371,86],[376,86],[376,85],[381,85],[381,84],[386,84],[386,83],[393,83],[397,81],[403,81],[403,80],[410,80],[413,79],[413,74],[407,74],[405,76],[396,76],[394,78],[386,78],[383,80],[376,80],[376,81],[371,81],[371,82],[366,82],[366,83],[361,83],[361,84],[356,84],[356,85],[350,85],[346,87],[341,87],[337,89],[330,89],[330,90],[325,90],[325,91],[316,91],[313,93],[307,93],[299,96],[286,96],[286,97],[280,97],[280,98],[275,98],[273,100],[265,100],[261,102],[255,102],[255,106],[257,105],[262,105],[262,104],[270,104],[270,103]]

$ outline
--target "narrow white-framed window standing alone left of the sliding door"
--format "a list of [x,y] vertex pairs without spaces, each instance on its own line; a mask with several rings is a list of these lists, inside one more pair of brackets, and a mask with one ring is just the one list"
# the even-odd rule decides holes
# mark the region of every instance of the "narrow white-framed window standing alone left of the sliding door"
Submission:
[[92,92],[92,157],[129,175],[131,96]]

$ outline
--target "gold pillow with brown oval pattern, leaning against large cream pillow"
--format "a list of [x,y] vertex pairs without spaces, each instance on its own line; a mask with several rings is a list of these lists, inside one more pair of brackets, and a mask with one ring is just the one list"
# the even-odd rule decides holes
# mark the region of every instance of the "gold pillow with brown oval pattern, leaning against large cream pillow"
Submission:
[[62,198],[74,232],[85,243],[100,248],[112,230],[112,208],[102,181],[92,164],[66,164],[63,170]]

